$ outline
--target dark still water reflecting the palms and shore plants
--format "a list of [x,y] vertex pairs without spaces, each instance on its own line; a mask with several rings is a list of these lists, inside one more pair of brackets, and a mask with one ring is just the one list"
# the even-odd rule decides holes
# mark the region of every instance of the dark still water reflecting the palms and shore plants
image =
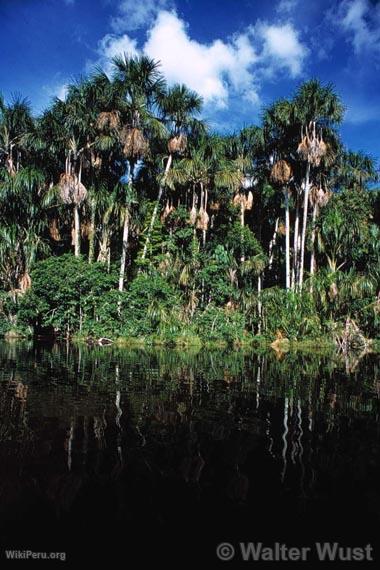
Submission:
[[319,540],[378,561],[379,396],[375,355],[2,343],[2,548],[195,567]]

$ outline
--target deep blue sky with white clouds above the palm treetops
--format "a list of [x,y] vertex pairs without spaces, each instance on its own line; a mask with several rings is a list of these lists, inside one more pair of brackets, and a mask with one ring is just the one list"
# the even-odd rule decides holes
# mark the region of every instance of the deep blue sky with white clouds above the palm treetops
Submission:
[[380,3],[374,0],[0,0],[0,91],[39,113],[72,78],[125,51],[162,62],[221,131],[259,121],[304,80],[332,82],[347,146],[380,157]]

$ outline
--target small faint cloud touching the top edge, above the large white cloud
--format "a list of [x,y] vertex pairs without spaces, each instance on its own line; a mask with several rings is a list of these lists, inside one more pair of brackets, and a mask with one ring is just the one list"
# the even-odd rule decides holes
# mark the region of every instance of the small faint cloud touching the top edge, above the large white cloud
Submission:
[[171,0],[121,0],[118,15],[111,19],[111,27],[116,33],[149,27],[161,10],[171,7]]

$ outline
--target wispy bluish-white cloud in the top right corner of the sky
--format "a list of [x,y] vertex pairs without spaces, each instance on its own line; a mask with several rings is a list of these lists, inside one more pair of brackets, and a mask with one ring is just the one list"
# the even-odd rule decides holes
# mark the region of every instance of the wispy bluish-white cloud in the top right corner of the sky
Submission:
[[356,54],[380,51],[380,6],[368,0],[344,0],[337,22],[349,34]]

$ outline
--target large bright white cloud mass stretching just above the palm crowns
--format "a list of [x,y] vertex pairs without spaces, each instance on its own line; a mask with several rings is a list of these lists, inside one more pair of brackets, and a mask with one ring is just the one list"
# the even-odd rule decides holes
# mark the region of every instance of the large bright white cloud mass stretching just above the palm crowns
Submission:
[[275,71],[297,77],[308,55],[290,23],[259,22],[230,38],[202,43],[190,36],[184,20],[168,10],[160,10],[147,26],[146,41],[140,46],[127,33],[106,35],[98,46],[97,63],[108,72],[109,58],[123,52],[145,53],[160,61],[169,84],[185,83],[206,105],[218,109],[227,108],[232,96],[257,105],[264,77],[273,77]]

